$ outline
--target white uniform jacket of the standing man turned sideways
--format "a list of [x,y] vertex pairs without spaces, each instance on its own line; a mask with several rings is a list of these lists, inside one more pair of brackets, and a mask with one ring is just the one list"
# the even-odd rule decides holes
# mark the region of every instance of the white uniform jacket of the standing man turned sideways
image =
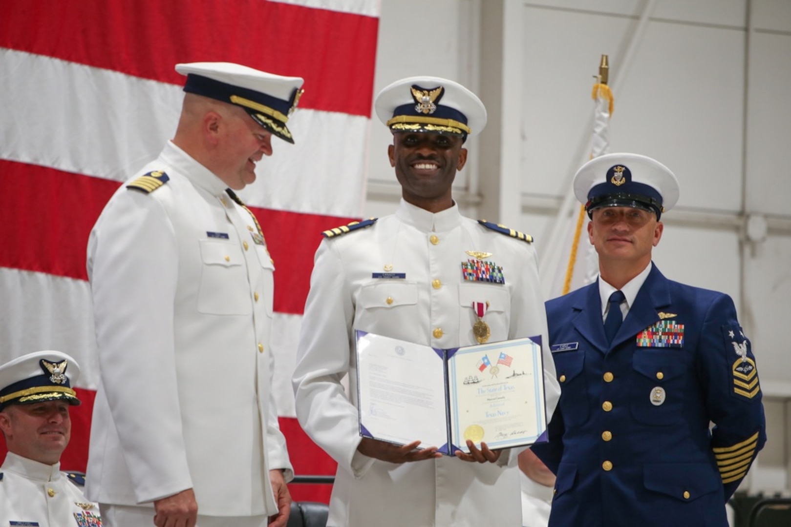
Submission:
[[251,213],[169,142],[122,186],[88,244],[101,381],[87,493],[115,505],[195,489],[199,514],[278,510],[293,477],[271,393],[272,264]]

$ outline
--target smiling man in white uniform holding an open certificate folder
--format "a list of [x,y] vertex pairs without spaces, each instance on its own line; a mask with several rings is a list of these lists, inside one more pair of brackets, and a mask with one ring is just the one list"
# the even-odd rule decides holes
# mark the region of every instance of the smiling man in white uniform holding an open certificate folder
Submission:
[[[401,203],[392,216],[324,232],[293,379],[302,427],[338,461],[327,525],[521,525],[517,449],[467,442],[470,454],[443,457],[421,438],[395,446],[360,436],[355,329],[456,348],[481,342],[476,324],[490,342],[545,342],[547,324],[532,239],[461,216],[452,198],[464,141],[486,124],[478,97],[453,81],[411,77],[384,88],[376,108],[393,134]],[[544,351],[551,415],[559,390]]]

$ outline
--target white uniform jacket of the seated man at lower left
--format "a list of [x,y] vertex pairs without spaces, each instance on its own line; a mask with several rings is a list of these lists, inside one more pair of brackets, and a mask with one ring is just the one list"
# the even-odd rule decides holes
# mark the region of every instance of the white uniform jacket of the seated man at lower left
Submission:
[[8,453],[0,467],[0,525],[101,527],[99,506],[60,472],[60,463],[44,465]]

